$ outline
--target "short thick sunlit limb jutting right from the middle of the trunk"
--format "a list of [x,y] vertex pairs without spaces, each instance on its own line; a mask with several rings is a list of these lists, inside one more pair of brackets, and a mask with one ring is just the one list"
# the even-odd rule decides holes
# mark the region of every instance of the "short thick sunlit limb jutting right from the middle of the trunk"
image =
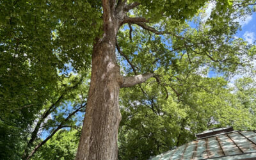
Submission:
[[121,85],[121,88],[135,86],[136,84],[143,83],[147,81],[147,79],[149,79],[150,77],[153,77],[154,75],[155,74],[153,73],[145,73],[145,74],[139,74],[137,76],[124,77],[124,82]]

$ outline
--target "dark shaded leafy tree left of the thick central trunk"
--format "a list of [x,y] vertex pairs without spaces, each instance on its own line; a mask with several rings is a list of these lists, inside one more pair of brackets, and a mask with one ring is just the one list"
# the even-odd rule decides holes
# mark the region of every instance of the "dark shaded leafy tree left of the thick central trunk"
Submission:
[[[70,71],[82,74],[90,67],[92,35],[77,27],[89,24],[77,23],[74,18],[72,22],[69,20],[74,15],[84,17],[92,10],[86,3],[72,1],[0,1],[0,4],[0,157],[26,158],[38,145],[38,133],[44,129],[54,131],[68,112],[76,111],[69,108],[63,114],[57,109],[61,102],[77,100],[81,76],[72,77]],[[74,32],[77,35],[70,36]],[[81,35],[88,37],[83,39]],[[83,90],[86,97],[87,89]],[[54,123],[45,124],[51,115],[59,116]]]

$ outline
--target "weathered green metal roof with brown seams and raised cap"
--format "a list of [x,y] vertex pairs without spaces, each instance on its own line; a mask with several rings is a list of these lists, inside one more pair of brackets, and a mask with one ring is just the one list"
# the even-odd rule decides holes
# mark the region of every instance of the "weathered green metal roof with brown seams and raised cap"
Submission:
[[[227,127],[228,128],[228,127]],[[169,150],[151,160],[167,159],[256,159],[256,132],[212,129],[198,135],[207,136]],[[216,131],[228,131],[215,134]],[[211,134],[212,132],[212,134]],[[210,136],[209,136],[210,134]]]

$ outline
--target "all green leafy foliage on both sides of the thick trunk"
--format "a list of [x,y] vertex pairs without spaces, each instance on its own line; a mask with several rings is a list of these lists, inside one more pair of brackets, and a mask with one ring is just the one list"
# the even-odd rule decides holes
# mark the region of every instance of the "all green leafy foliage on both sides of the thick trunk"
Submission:
[[[248,63],[255,45],[234,37],[236,19],[255,12],[255,1],[214,1],[209,19],[205,0],[136,2],[128,15],[146,22],[119,30],[118,63],[127,76],[157,76],[121,91],[120,158],[146,159],[213,126],[255,129],[255,81],[239,79],[231,89],[226,81],[239,67],[255,69]],[[101,1],[0,0],[1,158],[28,156],[44,142],[42,131],[49,141],[34,159],[74,158],[78,133],[63,128],[81,126],[101,35]]]

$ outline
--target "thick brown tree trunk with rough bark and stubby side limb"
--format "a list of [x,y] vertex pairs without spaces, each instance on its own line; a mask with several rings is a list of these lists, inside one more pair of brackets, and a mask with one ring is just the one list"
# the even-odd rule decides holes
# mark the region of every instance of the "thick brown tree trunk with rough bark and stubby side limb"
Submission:
[[[118,94],[121,87],[147,81],[154,74],[134,77],[120,75],[116,62],[116,35],[128,12],[126,1],[102,0],[103,36],[93,45],[92,77],[83,129],[76,159],[117,159],[117,136],[121,114]],[[126,9],[125,9],[126,7]],[[133,6],[135,7],[135,6]]]

